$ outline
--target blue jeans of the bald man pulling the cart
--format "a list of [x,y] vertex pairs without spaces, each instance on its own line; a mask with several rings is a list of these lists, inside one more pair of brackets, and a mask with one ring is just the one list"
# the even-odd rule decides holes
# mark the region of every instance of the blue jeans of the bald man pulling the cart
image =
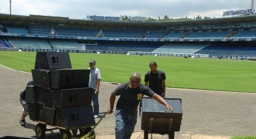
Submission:
[[116,109],[116,139],[129,139],[137,122],[137,115],[129,115],[121,109]]

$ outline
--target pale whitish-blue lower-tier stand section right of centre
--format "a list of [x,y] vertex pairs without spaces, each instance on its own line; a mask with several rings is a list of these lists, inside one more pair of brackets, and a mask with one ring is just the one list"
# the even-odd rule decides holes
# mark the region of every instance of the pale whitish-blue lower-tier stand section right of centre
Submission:
[[155,53],[179,53],[179,54],[192,54],[201,50],[210,44],[197,44],[197,43],[169,43],[154,50]]

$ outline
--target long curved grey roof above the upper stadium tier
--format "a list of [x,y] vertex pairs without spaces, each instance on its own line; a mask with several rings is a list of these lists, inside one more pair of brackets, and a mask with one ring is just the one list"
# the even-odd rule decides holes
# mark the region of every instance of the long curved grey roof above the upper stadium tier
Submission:
[[145,27],[170,27],[176,25],[199,25],[199,24],[223,24],[223,23],[244,23],[255,22],[256,15],[237,16],[227,18],[213,18],[201,20],[185,20],[185,21],[157,21],[157,22],[125,22],[125,21],[95,21],[95,20],[80,20],[69,19],[68,17],[52,17],[52,16],[21,16],[0,14],[0,21],[13,21],[25,23],[57,23],[71,25],[92,25],[92,26],[145,26]]

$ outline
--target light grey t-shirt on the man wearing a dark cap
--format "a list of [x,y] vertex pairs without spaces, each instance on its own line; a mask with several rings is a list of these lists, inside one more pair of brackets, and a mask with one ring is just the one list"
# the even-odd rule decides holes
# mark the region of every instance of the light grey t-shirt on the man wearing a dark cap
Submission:
[[[88,70],[90,70],[90,68]],[[92,87],[95,90],[99,79],[101,79],[100,70],[96,67],[90,70],[89,87]]]

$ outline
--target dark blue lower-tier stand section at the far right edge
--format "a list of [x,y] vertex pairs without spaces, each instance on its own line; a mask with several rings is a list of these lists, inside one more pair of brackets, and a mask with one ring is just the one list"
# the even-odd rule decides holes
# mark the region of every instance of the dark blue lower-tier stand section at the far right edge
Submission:
[[253,44],[212,44],[194,54],[256,56],[256,47]]

